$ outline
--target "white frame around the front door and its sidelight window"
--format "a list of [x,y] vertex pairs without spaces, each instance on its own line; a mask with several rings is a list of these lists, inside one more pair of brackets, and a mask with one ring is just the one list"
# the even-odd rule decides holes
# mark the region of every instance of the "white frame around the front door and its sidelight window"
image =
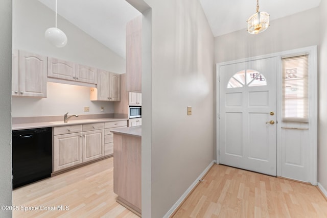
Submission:
[[[256,57],[244,58],[239,60],[221,62],[216,64],[216,161],[220,163],[220,66],[236,64],[247,61],[254,61],[264,58],[277,57],[277,121],[281,120],[282,114],[282,61],[285,56],[295,56],[297,54],[309,54],[309,141],[312,147],[309,152],[310,159],[310,183],[317,185],[317,126],[318,126],[318,80],[317,80],[317,46],[302,47],[300,49],[288,50],[284,52],[272,53]],[[277,127],[277,176],[281,176],[282,149],[281,149],[281,127]]]

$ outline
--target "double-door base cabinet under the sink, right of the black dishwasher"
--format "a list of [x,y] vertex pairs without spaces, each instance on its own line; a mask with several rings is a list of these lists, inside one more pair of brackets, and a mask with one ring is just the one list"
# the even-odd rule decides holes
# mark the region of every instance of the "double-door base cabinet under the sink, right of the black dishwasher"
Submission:
[[104,123],[53,128],[54,172],[104,155]]

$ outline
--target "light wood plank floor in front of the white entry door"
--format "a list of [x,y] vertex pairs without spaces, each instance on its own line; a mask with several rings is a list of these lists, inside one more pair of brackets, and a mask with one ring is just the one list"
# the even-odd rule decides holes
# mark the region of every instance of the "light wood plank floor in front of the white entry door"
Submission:
[[178,217],[327,217],[316,186],[215,164]]

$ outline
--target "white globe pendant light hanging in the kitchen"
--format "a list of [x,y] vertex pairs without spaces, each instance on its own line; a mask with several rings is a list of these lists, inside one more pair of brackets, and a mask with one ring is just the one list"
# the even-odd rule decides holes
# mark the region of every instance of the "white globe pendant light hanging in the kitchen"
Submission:
[[57,0],[56,0],[56,27],[49,28],[44,33],[45,39],[56,47],[63,47],[67,44],[67,36],[57,28]]

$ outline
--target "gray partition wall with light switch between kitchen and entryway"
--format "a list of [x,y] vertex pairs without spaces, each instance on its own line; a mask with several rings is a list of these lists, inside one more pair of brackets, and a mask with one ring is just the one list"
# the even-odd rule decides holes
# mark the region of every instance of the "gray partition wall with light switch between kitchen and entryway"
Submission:
[[150,124],[142,126],[142,149],[151,156],[142,158],[151,163],[151,186],[143,190],[151,205],[142,213],[156,218],[214,160],[214,37],[198,0],[146,2],[152,8],[152,74],[142,84],[151,87],[142,90],[143,110],[150,113],[143,117]]

